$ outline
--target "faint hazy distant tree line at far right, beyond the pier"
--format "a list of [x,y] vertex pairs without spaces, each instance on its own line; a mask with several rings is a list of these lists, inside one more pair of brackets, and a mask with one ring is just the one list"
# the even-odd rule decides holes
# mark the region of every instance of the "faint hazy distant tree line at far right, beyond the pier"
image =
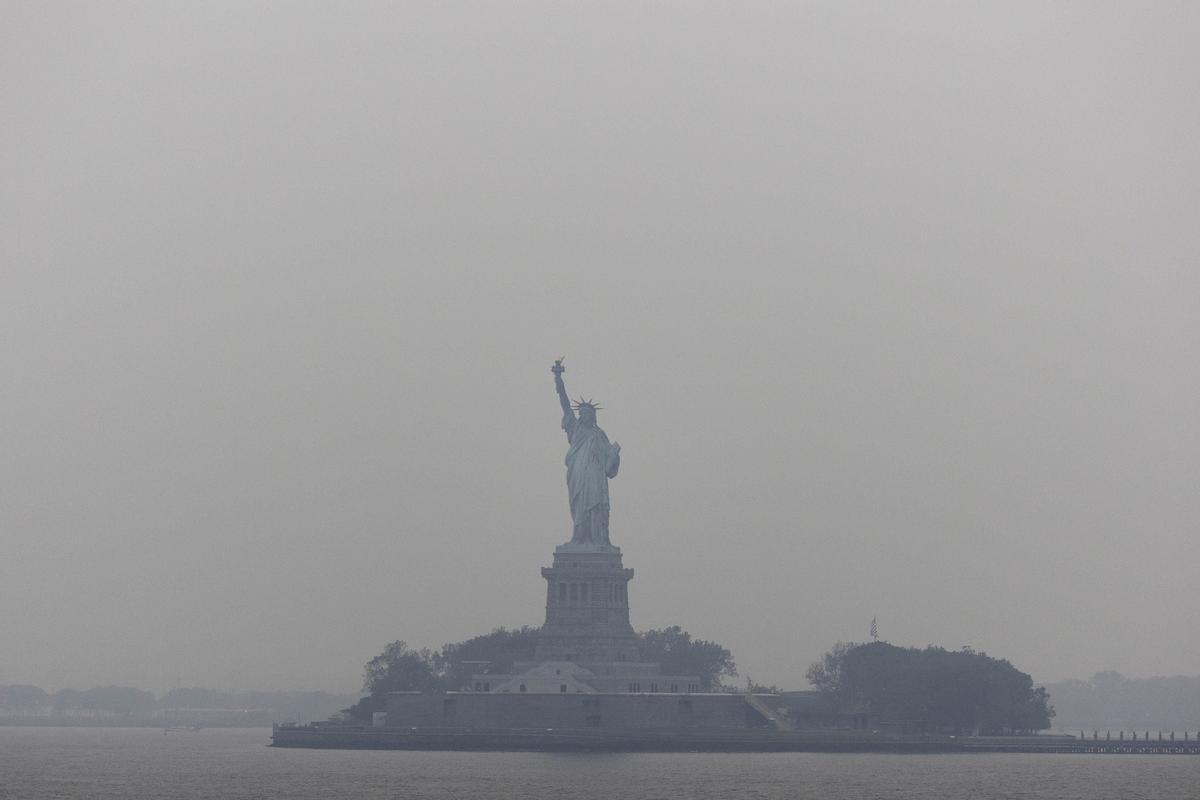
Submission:
[[1100,672],[1046,688],[1058,711],[1055,723],[1067,730],[1200,729],[1200,675],[1126,678]]

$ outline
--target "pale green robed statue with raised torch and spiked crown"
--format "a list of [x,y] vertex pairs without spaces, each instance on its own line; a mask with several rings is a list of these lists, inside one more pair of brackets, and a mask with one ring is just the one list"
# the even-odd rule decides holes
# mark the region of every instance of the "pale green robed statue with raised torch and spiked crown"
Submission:
[[554,362],[554,389],[563,407],[566,431],[566,491],[571,500],[571,545],[612,547],[608,541],[608,479],[620,469],[620,445],[596,425],[599,405],[580,399],[571,403],[563,384],[563,360]]

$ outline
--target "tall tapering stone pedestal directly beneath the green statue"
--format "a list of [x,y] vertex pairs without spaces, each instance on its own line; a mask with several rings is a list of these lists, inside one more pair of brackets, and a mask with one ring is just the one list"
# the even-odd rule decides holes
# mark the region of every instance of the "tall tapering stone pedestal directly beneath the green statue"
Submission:
[[629,582],[634,571],[620,548],[562,545],[546,578],[546,624],[538,637],[538,661],[578,664],[641,661],[629,624]]

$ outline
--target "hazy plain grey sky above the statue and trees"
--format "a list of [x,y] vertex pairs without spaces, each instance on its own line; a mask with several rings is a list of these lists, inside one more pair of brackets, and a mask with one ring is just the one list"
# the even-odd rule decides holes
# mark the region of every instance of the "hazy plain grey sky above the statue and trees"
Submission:
[[0,682],[634,624],[1200,673],[1200,5],[5,4]]

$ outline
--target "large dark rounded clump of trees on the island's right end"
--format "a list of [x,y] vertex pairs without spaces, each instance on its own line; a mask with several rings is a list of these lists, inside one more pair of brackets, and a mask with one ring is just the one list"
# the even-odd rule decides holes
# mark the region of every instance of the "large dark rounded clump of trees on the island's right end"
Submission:
[[1020,733],[1050,727],[1042,686],[1003,658],[971,649],[838,643],[808,672],[832,704],[922,730]]

